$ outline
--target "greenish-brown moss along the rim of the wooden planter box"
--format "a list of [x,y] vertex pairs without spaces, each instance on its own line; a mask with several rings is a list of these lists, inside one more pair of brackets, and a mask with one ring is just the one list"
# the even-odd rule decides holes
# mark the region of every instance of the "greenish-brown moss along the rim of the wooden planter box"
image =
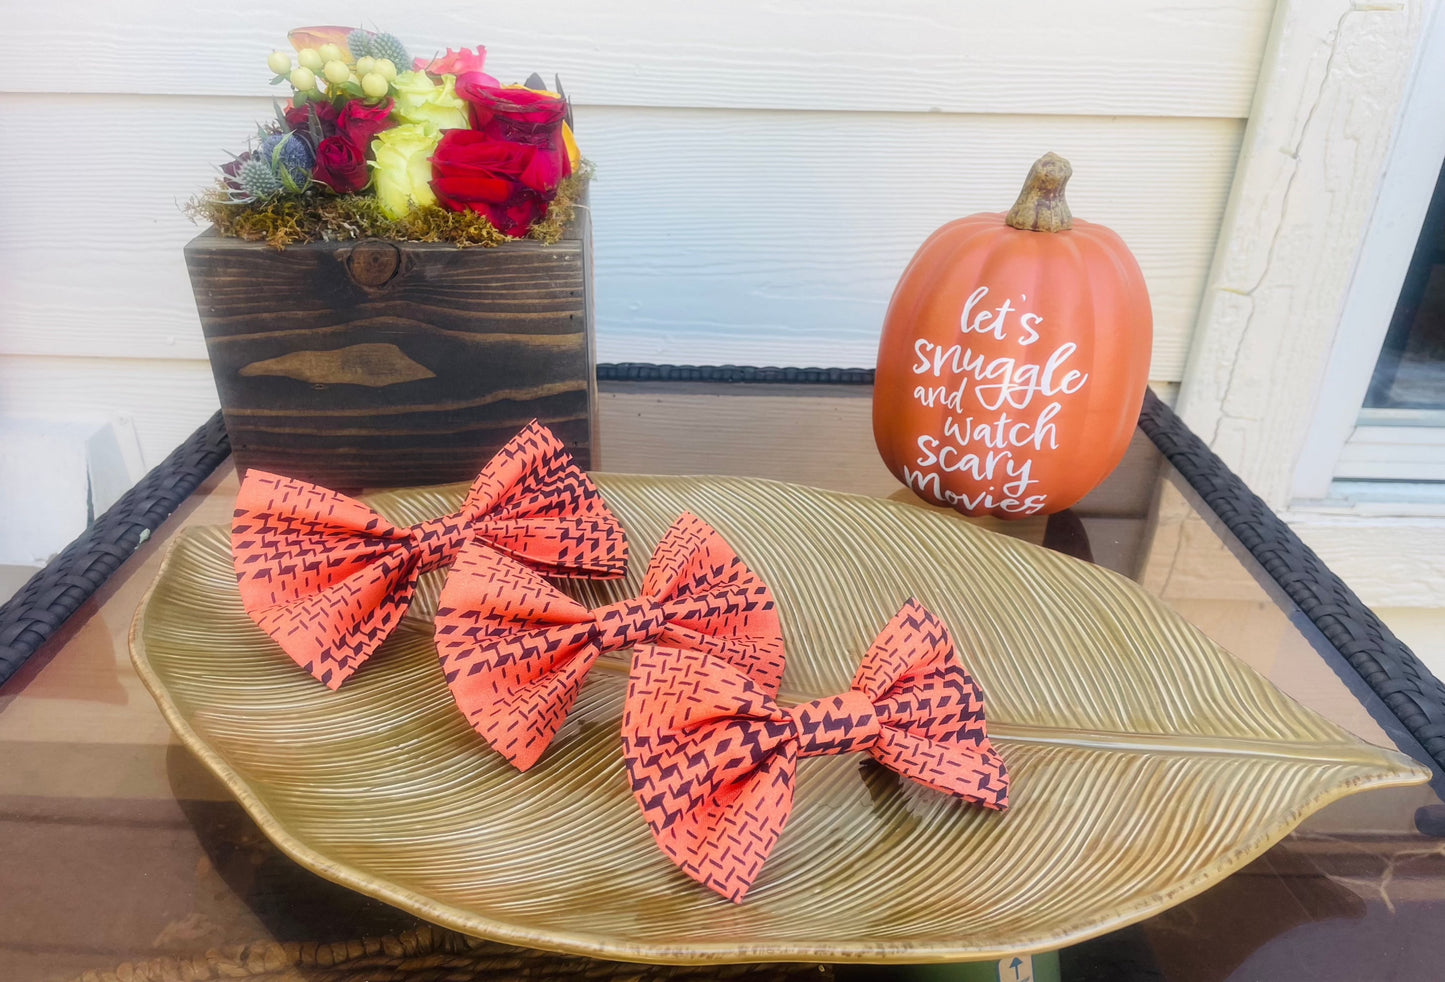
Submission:
[[[527,238],[555,243],[577,217],[577,202],[587,189],[591,165],[584,162],[571,178],[558,186],[556,198]],[[381,214],[374,195],[332,195],[308,191],[267,201],[237,204],[227,201],[224,185],[202,192],[186,205],[186,214],[197,222],[210,222],[223,235],[266,243],[282,250],[296,243],[348,241],[355,238],[396,238],[412,243],[454,243],[468,246],[501,246],[510,241],[496,225],[473,211],[419,208],[405,218],[392,220]]]

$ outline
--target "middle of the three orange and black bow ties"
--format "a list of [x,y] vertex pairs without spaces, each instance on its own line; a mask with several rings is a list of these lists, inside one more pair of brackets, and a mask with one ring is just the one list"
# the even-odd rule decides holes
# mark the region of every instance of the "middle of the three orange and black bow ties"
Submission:
[[457,559],[436,608],[436,650],[457,705],[517,770],[566,719],[604,651],[642,641],[709,653],[777,692],[783,638],[767,585],[705,521],[683,514],[647,565],[642,595],[587,607],[496,555]]

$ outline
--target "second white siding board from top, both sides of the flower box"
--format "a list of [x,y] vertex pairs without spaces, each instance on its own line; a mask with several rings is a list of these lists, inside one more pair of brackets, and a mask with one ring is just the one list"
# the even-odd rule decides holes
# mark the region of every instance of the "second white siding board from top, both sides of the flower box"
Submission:
[[[0,156],[0,352],[204,358],[181,201],[266,118],[254,98],[0,95],[0,126],[87,152]],[[1243,131],[1235,120],[592,107],[604,361],[873,364],[889,295],[949,218],[1006,209],[1045,150],[1130,244],[1178,380]],[[137,134],[144,134],[137,140]]]

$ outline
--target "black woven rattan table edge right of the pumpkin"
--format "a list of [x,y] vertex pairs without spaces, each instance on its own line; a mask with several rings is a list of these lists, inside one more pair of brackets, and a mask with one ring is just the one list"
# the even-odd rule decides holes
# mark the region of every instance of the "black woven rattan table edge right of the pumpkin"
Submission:
[[1153,393],[1144,396],[1139,427],[1445,767],[1445,685]]

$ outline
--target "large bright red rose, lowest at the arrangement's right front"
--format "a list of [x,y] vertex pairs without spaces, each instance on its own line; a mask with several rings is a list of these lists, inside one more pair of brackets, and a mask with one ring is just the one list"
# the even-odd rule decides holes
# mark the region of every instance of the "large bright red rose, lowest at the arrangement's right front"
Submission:
[[432,191],[452,211],[475,211],[519,238],[546,214],[556,188],[540,191],[527,182],[538,149],[493,140],[477,130],[447,130],[432,153]]

